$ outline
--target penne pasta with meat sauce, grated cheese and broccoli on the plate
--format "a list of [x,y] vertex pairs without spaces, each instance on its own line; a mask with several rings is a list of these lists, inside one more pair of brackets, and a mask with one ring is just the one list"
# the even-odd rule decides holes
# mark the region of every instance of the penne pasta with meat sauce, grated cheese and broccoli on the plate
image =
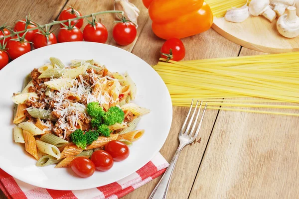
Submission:
[[130,146],[141,138],[145,130],[135,128],[150,110],[131,102],[137,87],[127,72],[94,60],[50,62],[33,69],[12,97],[14,142],[24,144],[36,166],[70,167],[112,140]]

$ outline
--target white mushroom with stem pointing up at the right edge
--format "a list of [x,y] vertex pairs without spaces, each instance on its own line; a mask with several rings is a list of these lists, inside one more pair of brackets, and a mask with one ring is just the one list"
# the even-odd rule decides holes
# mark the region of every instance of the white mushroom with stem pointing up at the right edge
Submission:
[[299,35],[299,17],[296,15],[296,7],[287,7],[288,14],[279,17],[277,29],[279,33],[288,38],[294,38]]

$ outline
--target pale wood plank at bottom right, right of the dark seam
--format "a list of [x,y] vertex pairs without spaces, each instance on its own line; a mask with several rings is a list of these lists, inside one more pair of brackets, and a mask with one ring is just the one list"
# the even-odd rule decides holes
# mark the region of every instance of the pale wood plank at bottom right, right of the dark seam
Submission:
[[220,110],[190,199],[298,198],[298,129],[299,117]]

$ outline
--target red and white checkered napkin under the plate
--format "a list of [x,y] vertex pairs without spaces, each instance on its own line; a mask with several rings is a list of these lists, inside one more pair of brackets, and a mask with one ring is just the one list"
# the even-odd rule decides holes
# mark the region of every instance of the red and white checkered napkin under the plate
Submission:
[[21,182],[0,169],[0,189],[9,199],[119,199],[162,175],[167,161],[158,153],[137,172],[115,183],[89,190],[59,191]]

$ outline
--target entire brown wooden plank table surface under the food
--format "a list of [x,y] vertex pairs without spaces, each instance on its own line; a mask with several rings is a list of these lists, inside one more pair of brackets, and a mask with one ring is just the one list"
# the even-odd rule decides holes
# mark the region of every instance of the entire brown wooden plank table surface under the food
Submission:
[[[151,20],[142,0],[130,0],[140,10],[135,42],[121,47],[150,65],[156,64],[163,40],[151,31]],[[71,5],[82,14],[113,9],[112,0],[0,0],[0,24],[13,26],[30,13],[38,23],[58,18]],[[101,16],[112,38],[113,16]],[[84,26],[83,26],[84,27]],[[57,30],[56,30],[57,32]],[[262,54],[242,48],[210,29],[182,39],[185,59]],[[120,46],[118,46],[120,47]],[[168,138],[160,150],[169,162],[178,146],[178,131],[187,108],[173,107]],[[298,112],[297,112],[298,113]],[[168,199],[296,199],[299,197],[299,118],[292,116],[208,110],[200,131],[201,142],[181,153]],[[124,199],[146,199],[159,178]],[[0,193],[0,199],[5,198]]]

